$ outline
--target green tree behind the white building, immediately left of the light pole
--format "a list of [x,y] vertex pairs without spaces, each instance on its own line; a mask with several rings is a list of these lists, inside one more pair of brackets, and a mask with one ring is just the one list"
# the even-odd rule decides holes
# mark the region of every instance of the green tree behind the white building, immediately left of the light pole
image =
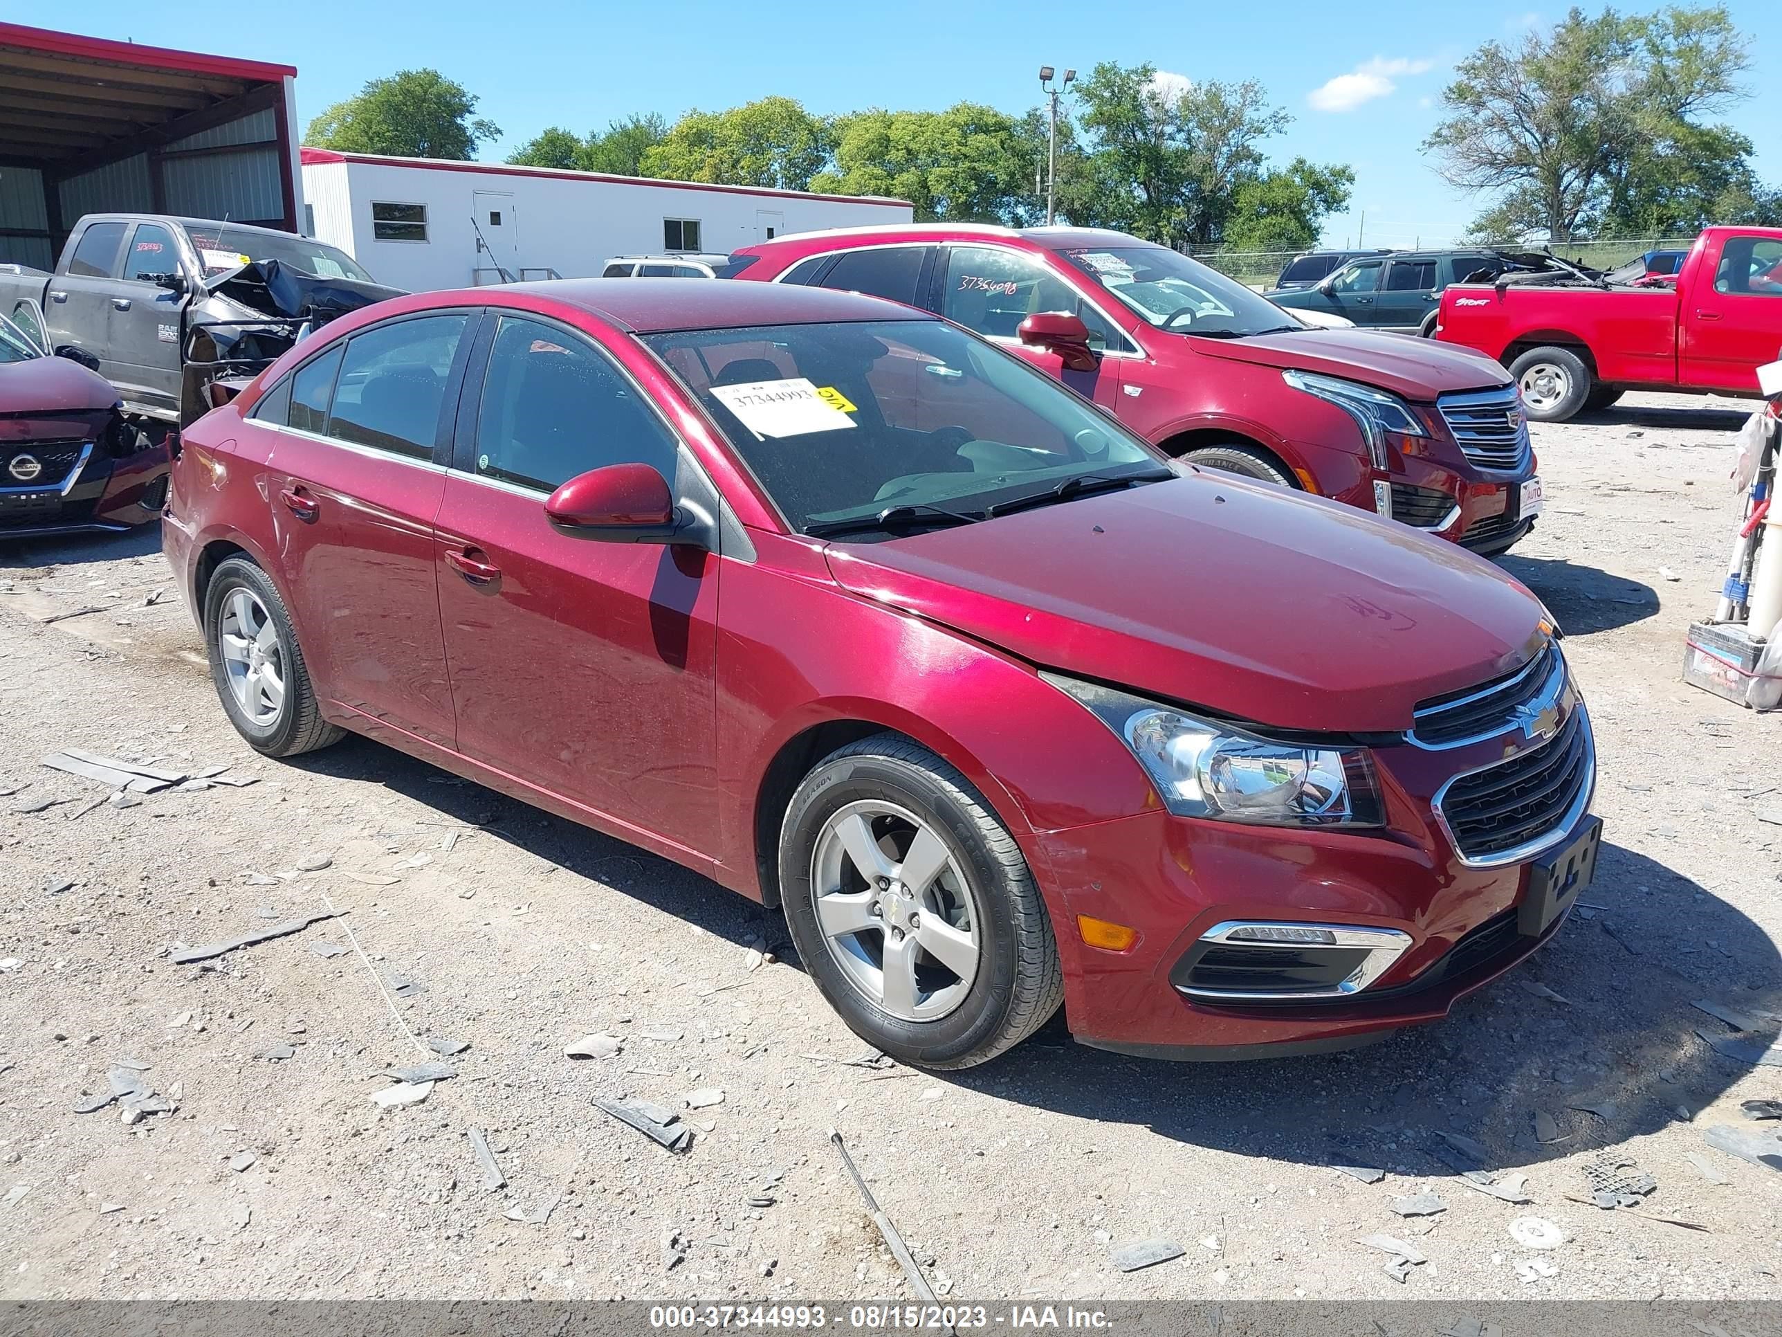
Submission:
[[855,112],[834,123],[836,166],[816,173],[811,189],[909,200],[923,223],[1007,223],[1034,196],[1021,130],[1012,116],[969,102],[941,112]]

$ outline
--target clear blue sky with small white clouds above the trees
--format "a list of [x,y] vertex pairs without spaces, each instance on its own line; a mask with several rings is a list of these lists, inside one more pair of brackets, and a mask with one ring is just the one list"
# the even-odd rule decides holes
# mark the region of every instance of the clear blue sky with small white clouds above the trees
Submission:
[[[1730,0],[1729,7],[1755,34],[1775,29],[1775,4]],[[1345,23],[1345,9],[1356,20]],[[552,123],[604,127],[634,111],[674,119],[690,107],[720,109],[770,93],[798,98],[814,112],[932,109],[962,98],[1018,112],[1039,102],[1041,64],[1087,71],[1098,61],[1149,61],[1190,80],[1258,78],[1294,116],[1292,128],[1272,141],[1272,157],[1304,153],[1354,168],[1353,209],[1329,221],[1326,242],[1358,242],[1365,212],[1369,244],[1427,246],[1454,239],[1479,209],[1445,185],[1418,148],[1440,118],[1447,73],[1479,43],[1513,39],[1559,18],[1563,7],[1529,9],[1527,0],[1353,7],[905,0],[884,9],[793,0],[303,0],[285,11],[237,7],[226,23],[169,27],[169,14],[189,12],[141,0],[77,0],[52,18],[41,5],[0,2],[0,14],[20,23],[290,62],[305,123],[367,78],[435,66],[476,93],[479,112],[506,132],[485,148],[483,157],[494,160]],[[1782,180],[1778,50],[1773,36],[1768,52],[1757,46],[1748,86],[1768,94],[1727,118],[1757,144],[1759,171],[1771,182]]]

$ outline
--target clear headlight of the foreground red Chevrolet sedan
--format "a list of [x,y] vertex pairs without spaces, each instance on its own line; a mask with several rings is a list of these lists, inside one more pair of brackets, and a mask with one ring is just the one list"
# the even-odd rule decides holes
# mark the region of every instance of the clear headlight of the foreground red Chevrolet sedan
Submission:
[[1178,816],[1294,827],[1376,827],[1365,749],[1263,738],[1096,683],[1041,674],[1112,729]]

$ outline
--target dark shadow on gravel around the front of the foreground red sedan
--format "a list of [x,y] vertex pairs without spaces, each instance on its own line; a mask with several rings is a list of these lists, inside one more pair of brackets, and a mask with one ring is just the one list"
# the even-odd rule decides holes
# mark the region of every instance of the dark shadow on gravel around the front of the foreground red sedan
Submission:
[[[937,1079],[1237,1155],[1436,1175],[1467,1168],[1447,1132],[1483,1148],[1479,1168],[1508,1169],[1691,1118],[1748,1071],[1700,1039],[1732,1029],[1691,1004],[1773,1013],[1778,986],[1762,929],[1606,841],[1570,923],[1443,1021],[1340,1054],[1165,1066],[1075,1045],[1053,1018],[1001,1059]],[[1536,1112],[1556,1141],[1538,1139]]]

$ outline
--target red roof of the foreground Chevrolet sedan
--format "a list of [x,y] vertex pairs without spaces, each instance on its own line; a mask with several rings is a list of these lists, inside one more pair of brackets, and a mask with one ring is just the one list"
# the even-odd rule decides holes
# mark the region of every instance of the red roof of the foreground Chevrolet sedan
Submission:
[[[599,316],[636,333],[725,330],[743,324],[822,324],[829,321],[932,321],[928,312],[898,301],[798,283],[745,283],[684,278],[556,278],[511,283],[501,292],[526,292]],[[488,289],[478,289],[488,298]],[[494,303],[499,305],[499,303]]]

